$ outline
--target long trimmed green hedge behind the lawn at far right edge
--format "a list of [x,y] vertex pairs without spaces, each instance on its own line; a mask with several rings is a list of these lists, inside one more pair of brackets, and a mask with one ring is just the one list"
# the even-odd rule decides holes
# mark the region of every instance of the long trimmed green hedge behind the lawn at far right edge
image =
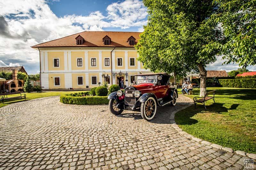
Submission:
[[223,87],[256,88],[256,79],[219,79],[219,82]]

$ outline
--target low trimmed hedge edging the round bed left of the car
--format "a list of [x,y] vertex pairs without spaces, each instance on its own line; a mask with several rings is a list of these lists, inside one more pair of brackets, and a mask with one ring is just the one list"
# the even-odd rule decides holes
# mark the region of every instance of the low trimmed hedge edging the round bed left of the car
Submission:
[[60,102],[65,104],[78,104],[78,105],[96,105],[96,104],[108,104],[109,100],[107,96],[67,96],[61,95]]

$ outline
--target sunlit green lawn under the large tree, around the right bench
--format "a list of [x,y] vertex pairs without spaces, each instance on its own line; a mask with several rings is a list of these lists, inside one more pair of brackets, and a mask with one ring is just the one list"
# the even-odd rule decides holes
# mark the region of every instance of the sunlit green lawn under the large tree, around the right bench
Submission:
[[[207,92],[215,89],[216,103],[207,101],[207,110],[201,103],[196,109],[193,105],[181,110],[175,114],[176,123],[197,138],[256,153],[256,89],[207,88]],[[194,96],[199,96],[199,90],[188,97]]]

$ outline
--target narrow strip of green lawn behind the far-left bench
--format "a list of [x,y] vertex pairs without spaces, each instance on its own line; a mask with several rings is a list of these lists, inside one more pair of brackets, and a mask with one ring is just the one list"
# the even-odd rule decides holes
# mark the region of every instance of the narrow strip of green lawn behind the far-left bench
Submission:
[[[40,98],[40,97],[59,96],[59,95],[63,95],[63,94],[79,93],[79,92],[83,92],[83,91],[44,91],[42,93],[22,93],[22,94],[26,94],[26,100],[31,100],[31,99],[36,99],[36,98]],[[8,95],[8,97],[11,97],[11,96],[19,96],[19,94],[18,95]],[[4,104],[0,101],[1,102],[0,107],[6,106],[11,103],[22,102],[22,101],[24,101],[24,98],[21,100],[15,100],[15,99],[12,101],[7,100],[7,102],[4,101]]]

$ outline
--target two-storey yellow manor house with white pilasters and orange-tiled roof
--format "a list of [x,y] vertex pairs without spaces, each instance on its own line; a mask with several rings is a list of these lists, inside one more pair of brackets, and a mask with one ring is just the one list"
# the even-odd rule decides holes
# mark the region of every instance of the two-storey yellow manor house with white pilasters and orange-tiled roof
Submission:
[[140,32],[85,31],[32,46],[40,52],[43,89],[87,89],[133,83],[135,74],[151,73],[137,61]]

